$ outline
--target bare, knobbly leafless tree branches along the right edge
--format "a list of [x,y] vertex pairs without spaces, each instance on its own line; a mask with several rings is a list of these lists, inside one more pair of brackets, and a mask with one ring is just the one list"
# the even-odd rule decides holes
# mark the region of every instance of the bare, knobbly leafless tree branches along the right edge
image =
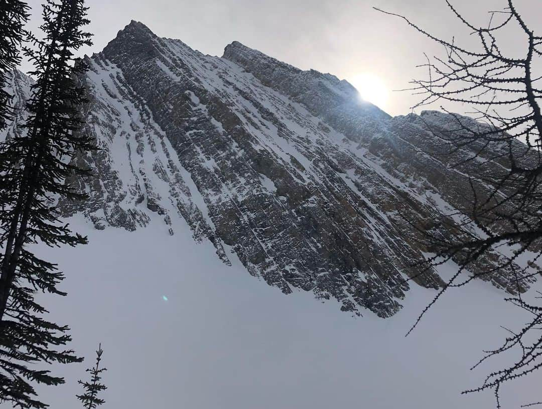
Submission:
[[[479,277],[507,277],[502,287],[514,295],[507,301],[526,311],[528,320],[520,330],[507,329],[502,345],[486,352],[473,369],[511,349],[518,349],[521,358],[489,374],[481,386],[463,392],[492,389],[500,407],[499,392],[505,382],[542,366],[542,308],[521,295],[542,271],[536,265],[542,255],[542,89],[537,85],[542,75],[534,72],[540,67],[542,37],[534,35],[513,0],[507,0],[504,10],[489,11],[489,22],[483,27],[470,22],[448,0],[446,3],[478,40],[478,49],[459,46],[454,37],[443,40],[409,18],[375,8],[401,18],[444,47],[444,57],[429,59],[424,54],[427,62],[418,67],[427,68],[429,78],[411,81],[409,90],[420,96],[412,109],[459,102],[471,106],[475,115],[475,119],[467,118],[442,108],[451,122],[451,129],[444,131],[424,121],[425,129],[440,141],[437,146],[445,150],[443,154],[459,157],[451,166],[468,179],[472,198],[470,206],[459,212],[447,213],[435,206],[439,222],[430,228],[415,226],[432,249],[427,265],[438,267],[452,259],[459,269],[408,333],[450,288],[463,287]],[[507,55],[500,47],[503,30],[513,28],[526,36],[524,49],[519,51],[524,57]],[[484,263],[484,257],[493,257],[494,263]],[[418,266],[420,274],[427,271],[427,265]]]

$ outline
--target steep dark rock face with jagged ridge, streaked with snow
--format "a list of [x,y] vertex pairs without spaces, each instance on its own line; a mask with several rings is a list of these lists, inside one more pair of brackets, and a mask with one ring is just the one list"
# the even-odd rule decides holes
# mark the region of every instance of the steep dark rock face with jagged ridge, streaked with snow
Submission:
[[[408,277],[443,285],[434,270],[412,266],[431,251],[416,227],[430,228],[438,211],[468,209],[472,198],[474,164],[450,167],[468,148],[442,155],[450,116],[392,118],[333,75],[238,42],[222,57],[203,55],[134,21],[86,60],[84,132],[100,150],[73,158],[93,169],[69,181],[90,199],[61,200],[65,216],[133,231],[157,213],[171,235],[190,228],[212,242],[224,263],[235,254],[284,293],[334,297],[354,314],[396,313],[416,285]],[[29,82],[12,78],[17,101]],[[486,170],[505,166],[486,155]],[[500,258],[488,252],[478,263]],[[513,291],[509,275],[486,278]]]

